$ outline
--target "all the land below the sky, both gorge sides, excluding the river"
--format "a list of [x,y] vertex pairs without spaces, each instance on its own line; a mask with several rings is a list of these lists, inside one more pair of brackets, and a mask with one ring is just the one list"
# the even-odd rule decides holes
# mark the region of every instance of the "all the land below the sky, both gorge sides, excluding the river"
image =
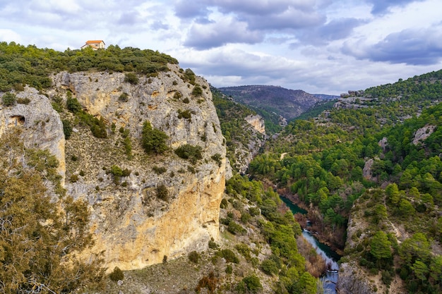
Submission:
[[0,52],[4,293],[321,293],[303,228],[338,293],[441,292],[442,71],[297,102],[151,50]]

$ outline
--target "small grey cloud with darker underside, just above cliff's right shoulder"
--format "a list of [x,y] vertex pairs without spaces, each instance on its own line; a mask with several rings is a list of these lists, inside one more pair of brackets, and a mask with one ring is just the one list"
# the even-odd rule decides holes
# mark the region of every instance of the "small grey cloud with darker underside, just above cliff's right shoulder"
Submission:
[[248,30],[246,23],[232,18],[203,25],[194,23],[184,42],[194,49],[210,49],[229,43],[256,44],[263,41],[259,32]]

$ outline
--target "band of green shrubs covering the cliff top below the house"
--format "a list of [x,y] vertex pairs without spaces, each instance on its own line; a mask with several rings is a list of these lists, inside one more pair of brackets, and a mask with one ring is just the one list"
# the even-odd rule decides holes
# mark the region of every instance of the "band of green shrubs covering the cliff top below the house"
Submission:
[[109,45],[105,50],[88,47],[61,52],[0,42],[0,91],[19,90],[25,84],[41,90],[51,86],[49,75],[60,71],[154,74],[167,71],[167,63],[178,64],[178,61],[158,51],[133,47],[121,49],[118,45]]

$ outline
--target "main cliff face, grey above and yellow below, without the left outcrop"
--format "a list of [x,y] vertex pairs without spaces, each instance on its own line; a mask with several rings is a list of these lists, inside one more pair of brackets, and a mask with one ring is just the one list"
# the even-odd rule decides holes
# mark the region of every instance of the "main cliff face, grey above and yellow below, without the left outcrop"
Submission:
[[[66,178],[83,171],[76,183],[67,183],[68,194],[90,204],[95,245],[85,256],[102,252],[109,271],[140,269],[167,259],[203,251],[210,238],[218,238],[220,202],[225,190],[225,145],[208,82],[196,78],[203,94],[194,97],[193,85],[181,79],[178,68],[158,78],[140,77],[138,85],[124,82],[123,73],[60,73],[58,89],[71,89],[93,116],[114,123],[114,133],[97,139],[84,128],[66,142]],[[179,92],[180,96],[174,97]],[[119,99],[126,93],[128,99]],[[178,97],[179,96],[179,97]],[[181,111],[190,114],[181,117]],[[141,148],[143,122],[164,131],[170,148],[162,156]],[[133,159],[126,159],[119,129],[129,130]],[[203,159],[180,159],[173,150],[181,145],[199,146]],[[123,150],[123,151],[122,151]],[[220,164],[213,157],[221,158]],[[216,158],[215,157],[215,158]],[[137,171],[115,185],[103,167],[117,165]],[[160,166],[165,173],[155,173]],[[173,175],[173,176],[172,176]],[[101,179],[98,181],[97,179]],[[157,198],[155,188],[165,185],[169,200]]]

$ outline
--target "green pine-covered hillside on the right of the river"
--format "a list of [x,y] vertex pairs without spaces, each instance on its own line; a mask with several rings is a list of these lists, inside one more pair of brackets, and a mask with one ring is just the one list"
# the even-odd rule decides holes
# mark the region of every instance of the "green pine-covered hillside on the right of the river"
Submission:
[[340,293],[442,290],[441,74],[292,121],[249,166],[308,207],[310,230],[342,252]]

